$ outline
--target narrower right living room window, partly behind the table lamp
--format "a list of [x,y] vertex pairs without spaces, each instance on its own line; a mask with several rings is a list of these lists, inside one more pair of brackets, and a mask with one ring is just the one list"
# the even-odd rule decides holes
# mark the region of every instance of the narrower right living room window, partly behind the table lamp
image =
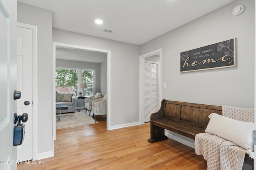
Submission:
[[92,70],[82,70],[82,82],[86,82],[86,96],[93,95],[93,71]]

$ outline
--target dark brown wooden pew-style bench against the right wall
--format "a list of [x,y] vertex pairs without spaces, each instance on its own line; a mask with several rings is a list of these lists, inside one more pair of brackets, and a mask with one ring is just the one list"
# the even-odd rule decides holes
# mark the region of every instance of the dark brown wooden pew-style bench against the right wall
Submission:
[[222,115],[222,107],[162,100],[159,111],[150,116],[148,142],[167,139],[164,129],[195,139],[196,134],[204,133],[211,113]]

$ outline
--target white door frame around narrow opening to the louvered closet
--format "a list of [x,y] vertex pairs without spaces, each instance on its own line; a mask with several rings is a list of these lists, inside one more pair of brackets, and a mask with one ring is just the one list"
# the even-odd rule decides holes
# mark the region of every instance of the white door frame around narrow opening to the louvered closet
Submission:
[[[158,58],[159,56],[159,58]],[[158,58],[156,62],[153,58]],[[147,61],[148,60],[148,61]],[[139,122],[145,123],[145,62],[158,63],[158,80],[157,80],[157,110],[160,108],[160,102],[162,100],[162,49],[140,55],[139,58]]]

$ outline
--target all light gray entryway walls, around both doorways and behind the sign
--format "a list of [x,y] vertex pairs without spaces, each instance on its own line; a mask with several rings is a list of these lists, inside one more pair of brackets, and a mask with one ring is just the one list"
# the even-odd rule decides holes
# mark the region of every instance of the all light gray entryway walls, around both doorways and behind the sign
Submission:
[[[234,6],[246,7],[233,16]],[[139,121],[138,56],[162,48],[162,97],[254,107],[254,1],[237,0],[143,45],[52,29],[52,12],[18,3],[18,22],[38,26],[38,153],[52,151],[52,41],[111,50],[111,125]],[[180,52],[237,38],[237,66],[180,73]],[[104,66],[101,66],[104,67]],[[102,85],[101,85],[102,86]],[[34,123],[34,122],[33,122]]]

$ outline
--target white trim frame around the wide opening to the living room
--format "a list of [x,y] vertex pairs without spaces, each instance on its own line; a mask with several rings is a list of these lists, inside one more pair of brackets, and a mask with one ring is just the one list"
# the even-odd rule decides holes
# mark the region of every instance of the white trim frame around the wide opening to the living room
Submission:
[[56,140],[56,121],[55,121],[55,70],[56,70],[56,48],[65,48],[65,49],[77,49],[91,52],[100,52],[105,53],[107,57],[107,129],[110,129],[110,99],[111,99],[111,73],[110,73],[110,61],[111,61],[111,51],[104,49],[96,49],[91,47],[84,47],[78,45],[64,44],[64,43],[52,43],[52,135],[53,140]]

